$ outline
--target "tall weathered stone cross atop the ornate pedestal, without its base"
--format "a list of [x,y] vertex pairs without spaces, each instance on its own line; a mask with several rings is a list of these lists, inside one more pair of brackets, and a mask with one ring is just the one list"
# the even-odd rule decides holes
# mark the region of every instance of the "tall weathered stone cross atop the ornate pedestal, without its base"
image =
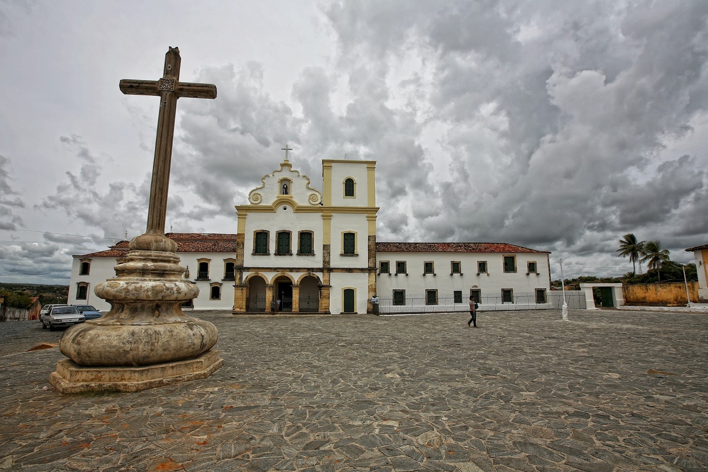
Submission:
[[170,183],[172,138],[175,131],[177,99],[181,97],[217,98],[217,86],[214,84],[190,84],[179,81],[181,60],[179,49],[170,47],[165,54],[165,68],[161,79],[156,81],[122,79],[120,81],[122,93],[160,97],[146,234],[165,234],[167,189]]

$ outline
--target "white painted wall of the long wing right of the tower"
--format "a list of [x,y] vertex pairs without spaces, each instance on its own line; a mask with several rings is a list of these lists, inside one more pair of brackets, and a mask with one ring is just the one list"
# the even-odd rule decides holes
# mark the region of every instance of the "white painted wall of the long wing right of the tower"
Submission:
[[[505,273],[503,255],[516,255],[515,273]],[[438,289],[438,294],[452,294],[462,290],[469,297],[469,289],[479,287],[482,294],[501,295],[501,289],[513,289],[514,294],[533,293],[535,289],[550,289],[547,255],[542,253],[377,253],[379,262],[388,260],[391,275],[377,275],[379,297],[391,297],[394,289],[406,290],[406,295],[425,294],[426,289]],[[395,275],[396,261],[404,260],[408,276]],[[462,275],[450,275],[450,263],[459,260]],[[477,262],[486,260],[489,275],[477,275]],[[435,274],[423,275],[423,263],[433,261]],[[537,263],[538,275],[526,275],[527,262]]]

